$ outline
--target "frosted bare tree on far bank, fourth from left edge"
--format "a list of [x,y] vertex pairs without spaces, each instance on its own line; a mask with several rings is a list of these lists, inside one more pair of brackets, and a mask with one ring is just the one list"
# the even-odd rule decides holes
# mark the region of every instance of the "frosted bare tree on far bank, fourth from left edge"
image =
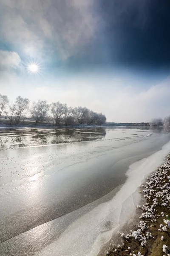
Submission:
[[59,126],[64,121],[64,117],[67,111],[67,104],[62,104],[60,102],[51,103],[51,113],[57,126]]

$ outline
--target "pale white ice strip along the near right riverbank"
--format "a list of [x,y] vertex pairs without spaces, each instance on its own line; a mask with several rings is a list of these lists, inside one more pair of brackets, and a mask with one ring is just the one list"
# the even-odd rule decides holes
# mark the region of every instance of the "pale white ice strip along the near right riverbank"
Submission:
[[[59,239],[37,254],[39,256],[94,256],[111,239],[113,231],[132,218],[140,201],[136,190],[144,177],[161,165],[170,152],[170,143],[161,151],[130,166],[127,181],[111,201],[101,204],[72,223]],[[55,225],[55,221],[53,223]]]

